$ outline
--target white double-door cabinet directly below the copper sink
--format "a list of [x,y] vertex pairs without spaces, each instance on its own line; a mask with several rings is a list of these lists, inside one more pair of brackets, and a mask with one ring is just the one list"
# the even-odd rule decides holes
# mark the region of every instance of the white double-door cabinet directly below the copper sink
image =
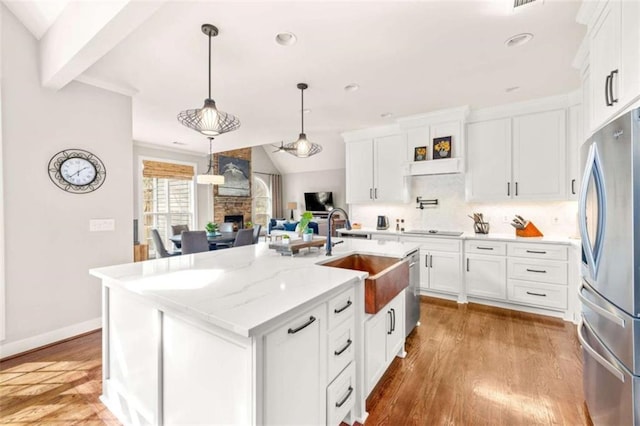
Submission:
[[365,321],[365,394],[368,395],[396,355],[404,356],[403,290],[377,314]]

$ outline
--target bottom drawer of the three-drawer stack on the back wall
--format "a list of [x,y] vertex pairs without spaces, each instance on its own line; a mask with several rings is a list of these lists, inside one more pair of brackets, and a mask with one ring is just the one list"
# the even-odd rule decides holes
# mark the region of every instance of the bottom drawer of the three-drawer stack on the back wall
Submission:
[[508,280],[508,299],[549,309],[567,309],[567,287],[530,281]]

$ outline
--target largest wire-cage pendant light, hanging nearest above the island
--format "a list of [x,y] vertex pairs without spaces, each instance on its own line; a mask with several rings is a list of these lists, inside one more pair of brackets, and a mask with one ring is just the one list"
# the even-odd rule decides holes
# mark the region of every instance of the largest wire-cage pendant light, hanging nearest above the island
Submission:
[[199,109],[189,109],[178,114],[178,121],[205,136],[218,136],[240,127],[240,120],[234,115],[219,111],[211,99],[211,37],[218,35],[218,28],[203,24],[202,32],[209,37],[209,97]]

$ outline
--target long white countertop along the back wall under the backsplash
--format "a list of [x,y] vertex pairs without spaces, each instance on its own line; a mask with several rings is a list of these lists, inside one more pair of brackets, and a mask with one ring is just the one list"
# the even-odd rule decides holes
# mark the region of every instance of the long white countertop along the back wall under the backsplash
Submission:
[[395,235],[402,237],[413,237],[413,238],[453,238],[459,240],[492,240],[492,241],[507,241],[507,242],[524,242],[524,243],[541,243],[541,244],[569,244],[569,245],[580,245],[580,240],[576,238],[568,238],[562,236],[544,236],[544,237],[518,237],[513,234],[476,234],[473,232],[465,232],[460,236],[454,237],[449,235],[428,235],[428,234],[411,234],[407,232],[398,232],[395,230],[379,230],[375,228],[361,228],[361,229],[351,229],[347,231],[345,228],[340,228],[336,230],[342,234],[355,234],[355,235],[366,235],[366,234],[376,234],[376,235]]

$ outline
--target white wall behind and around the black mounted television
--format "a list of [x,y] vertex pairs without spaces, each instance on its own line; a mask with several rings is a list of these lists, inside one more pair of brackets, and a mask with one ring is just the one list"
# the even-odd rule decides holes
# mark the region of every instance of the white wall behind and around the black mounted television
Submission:
[[[313,161],[307,158],[307,161]],[[346,210],[345,202],[345,171],[344,169],[321,170],[316,172],[289,173],[282,177],[283,205],[286,217],[291,214],[287,210],[287,203],[295,201],[298,208],[293,212],[294,218],[299,218],[304,212],[305,192],[333,192],[333,204],[335,207],[342,207]]]

